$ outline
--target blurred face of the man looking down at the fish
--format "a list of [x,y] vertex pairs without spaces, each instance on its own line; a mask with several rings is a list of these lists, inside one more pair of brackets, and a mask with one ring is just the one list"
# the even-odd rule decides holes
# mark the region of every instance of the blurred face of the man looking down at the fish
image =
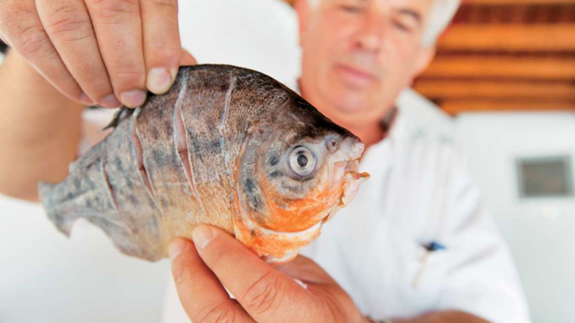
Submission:
[[381,119],[427,66],[421,47],[433,0],[296,2],[304,97],[342,126]]

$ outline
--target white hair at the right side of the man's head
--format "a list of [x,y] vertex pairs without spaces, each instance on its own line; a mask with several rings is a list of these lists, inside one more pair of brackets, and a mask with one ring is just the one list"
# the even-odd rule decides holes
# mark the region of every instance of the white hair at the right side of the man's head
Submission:
[[[312,7],[317,7],[323,0],[307,0]],[[461,0],[434,0],[431,13],[421,37],[421,45],[432,46],[440,34],[447,28],[455,15]]]

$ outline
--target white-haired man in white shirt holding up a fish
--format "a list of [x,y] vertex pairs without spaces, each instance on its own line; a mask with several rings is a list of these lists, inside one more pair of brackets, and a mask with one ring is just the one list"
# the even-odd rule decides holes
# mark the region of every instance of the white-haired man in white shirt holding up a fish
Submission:
[[[102,14],[102,7],[98,6],[102,2],[86,1],[86,6],[74,1],[62,3],[67,6],[61,3],[61,7],[48,6],[41,2],[37,7],[20,5],[27,9],[25,13],[37,12],[40,18],[23,15],[22,24],[29,22],[32,27],[18,29],[3,24],[1,36],[76,101],[137,106],[144,86],[155,93],[167,89],[166,84],[173,80],[174,66],[177,66],[174,62],[181,60],[181,54],[174,45],[178,44],[174,26],[162,24],[160,15],[150,14],[156,12],[151,3],[158,5],[158,2],[141,1],[138,14],[128,2],[117,2],[127,7],[117,10],[117,16],[124,16],[124,20],[114,16],[114,22],[129,27],[131,34],[141,36],[129,41],[124,34],[112,39],[102,37],[110,33],[104,18],[112,19]],[[429,32],[433,28],[428,25],[435,26],[429,23],[432,12],[442,12],[437,3],[432,0],[296,1],[303,48],[301,93],[322,113],[364,141],[367,149],[362,168],[373,178],[366,183],[370,186],[362,189],[359,201],[338,214],[331,221],[333,224],[328,222],[320,239],[304,251],[327,273],[304,257],[272,268],[228,234],[206,226],[194,230],[194,244],[175,240],[169,250],[175,282],[183,308],[192,321],[528,321],[508,251],[494,233],[494,225],[481,207],[477,189],[457,156],[447,147],[405,136],[401,132],[401,116],[392,124],[391,131],[388,127],[393,118],[382,126],[385,116],[393,116],[390,111],[398,93],[423,71],[433,56],[434,36],[428,33],[434,33]],[[6,4],[2,6],[7,8]],[[62,21],[66,20],[55,16],[64,15],[66,10],[63,13],[57,10],[63,8],[75,13],[76,20],[84,26],[86,17],[91,18],[93,28],[90,25],[87,29],[92,32],[79,34],[69,26],[62,28],[66,25]],[[165,14],[169,16],[170,12]],[[447,20],[444,19],[444,24]],[[16,37],[22,30],[39,28],[38,21],[44,36],[36,36],[35,43]],[[166,37],[171,48],[166,50],[167,54],[158,50],[157,44],[162,39],[151,25],[159,25],[159,30],[171,35]],[[437,32],[435,30],[435,34]],[[84,43],[62,39],[66,33],[74,33],[70,39]],[[139,39],[143,39],[143,43],[139,43]],[[110,48],[117,43],[131,50],[128,57],[110,54],[113,53]],[[86,48],[96,49],[101,55],[92,55]],[[37,55],[39,52],[48,54],[41,57]],[[78,52],[90,54],[82,57]],[[190,58],[187,59],[189,62]],[[14,58],[13,62],[9,66],[21,64],[21,68],[26,68],[21,59]],[[160,66],[166,62],[168,66]],[[94,74],[99,75],[97,78],[83,74],[90,72],[86,70],[90,64]],[[9,66],[0,73],[7,73]],[[85,70],[81,70],[82,66]],[[129,72],[122,71],[121,67]],[[34,77],[37,82],[43,82]],[[77,128],[67,124],[79,123],[79,105],[74,106],[75,103],[49,87],[44,89],[43,99],[25,105],[43,106],[41,116],[33,117],[32,131],[14,131],[9,125],[6,126],[10,129],[2,130],[9,137],[5,139],[7,152],[0,160],[7,165],[10,159],[20,158],[19,167],[24,167],[22,164],[30,159],[42,156],[50,169],[58,172],[48,176],[46,173],[50,172],[40,169],[28,175],[14,171],[14,167],[10,173],[2,168],[19,183],[25,183],[16,188],[12,185],[13,195],[36,198],[33,188],[36,181],[62,177],[65,171],[60,165],[73,158],[72,154],[49,156],[51,145],[53,148],[57,143],[66,143],[66,152],[77,145]],[[18,89],[12,86],[11,90]],[[53,101],[46,104],[48,95]],[[14,106],[18,105],[22,103],[14,102]],[[22,117],[22,111],[3,112],[12,124],[29,119],[29,116]],[[68,129],[55,129],[53,123],[62,122],[58,117],[64,113],[67,117],[60,128]],[[22,135],[28,142],[43,140],[37,149],[22,149],[14,144],[22,140],[18,137]],[[14,153],[26,153],[28,159],[14,157]],[[7,187],[2,184],[4,191]],[[222,284],[236,299],[228,297]]]

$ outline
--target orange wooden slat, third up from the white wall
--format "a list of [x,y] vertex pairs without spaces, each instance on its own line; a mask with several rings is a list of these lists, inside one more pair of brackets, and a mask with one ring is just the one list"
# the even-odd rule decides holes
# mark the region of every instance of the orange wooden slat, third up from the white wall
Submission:
[[422,76],[570,80],[575,76],[575,57],[439,56]]

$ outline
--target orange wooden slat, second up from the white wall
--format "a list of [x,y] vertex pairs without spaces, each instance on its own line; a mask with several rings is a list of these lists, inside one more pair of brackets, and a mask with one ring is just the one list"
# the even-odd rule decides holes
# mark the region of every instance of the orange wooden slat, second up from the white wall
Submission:
[[413,89],[428,98],[575,99],[573,82],[418,79]]

